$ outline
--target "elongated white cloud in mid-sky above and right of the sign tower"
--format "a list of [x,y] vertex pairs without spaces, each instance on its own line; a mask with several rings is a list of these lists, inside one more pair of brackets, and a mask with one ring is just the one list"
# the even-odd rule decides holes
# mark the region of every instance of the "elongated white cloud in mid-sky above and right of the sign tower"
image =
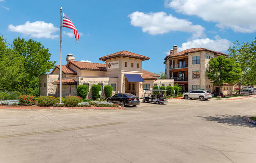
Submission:
[[135,27],[142,27],[143,32],[149,34],[164,34],[170,31],[182,31],[192,33],[192,38],[204,36],[204,27],[201,25],[193,25],[185,19],[179,19],[165,12],[158,13],[142,13],[139,11],[128,15],[131,24]]

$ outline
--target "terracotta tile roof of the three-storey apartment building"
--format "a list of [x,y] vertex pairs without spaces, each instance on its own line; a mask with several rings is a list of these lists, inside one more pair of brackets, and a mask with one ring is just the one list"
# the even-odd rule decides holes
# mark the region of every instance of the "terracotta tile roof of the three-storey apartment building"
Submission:
[[221,52],[218,52],[218,51],[212,51],[212,50],[209,50],[209,49],[206,49],[206,48],[199,47],[199,48],[186,49],[186,50],[181,51],[181,52],[176,53],[176,54],[169,54],[164,58],[164,60],[166,60],[168,57],[183,56],[183,55],[187,55],[188,53],[194,53],[194,52],[199,52],[199,51],[210,51],[210,52],[212,52],[214,54],[217,54],[217,55],[229,56],[228,54],[225,54],[225,53],[221,53]]

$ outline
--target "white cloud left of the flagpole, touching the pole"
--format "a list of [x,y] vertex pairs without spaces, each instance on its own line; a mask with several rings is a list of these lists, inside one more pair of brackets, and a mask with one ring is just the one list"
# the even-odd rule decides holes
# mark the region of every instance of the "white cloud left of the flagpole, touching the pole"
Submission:
[[35,38],[58,38],[59,35],[54,35],[56,31],[59,31],[59,28],[54,27],[51,23],[46,23],[42,21],[36,21],[36,22],[29,22],[27,21],[25,24],[22,25],[12,25],[10,24],[8,26],[9,31],[22,33],[25,36],[31,36]]

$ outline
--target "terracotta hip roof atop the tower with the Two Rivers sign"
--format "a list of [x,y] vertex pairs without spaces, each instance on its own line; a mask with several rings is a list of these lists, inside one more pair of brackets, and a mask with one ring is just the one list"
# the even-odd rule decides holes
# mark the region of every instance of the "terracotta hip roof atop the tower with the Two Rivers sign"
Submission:
[[127,56],[127,57],[133,57],[133,58],[140,58],[142,60],[149,60],[150,58],[147,56],[143,56],[140,54],[136,54],[136,53],[132,53],[129,51],[119,51],[117,53],[113,53],[113,54],[109,54],[106,56],[102,56],[101,58],[99,58],[99,60],[106,60],[108,58],[113,58],[113,57],[117,57],[117,56]]

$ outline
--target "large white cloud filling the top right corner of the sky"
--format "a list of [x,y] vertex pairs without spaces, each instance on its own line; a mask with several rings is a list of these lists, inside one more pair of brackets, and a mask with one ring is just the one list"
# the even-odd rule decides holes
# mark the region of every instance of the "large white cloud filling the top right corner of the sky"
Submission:
[[256,32],[256,0],[165,0],[165,6],[215,22],[220,29]]

